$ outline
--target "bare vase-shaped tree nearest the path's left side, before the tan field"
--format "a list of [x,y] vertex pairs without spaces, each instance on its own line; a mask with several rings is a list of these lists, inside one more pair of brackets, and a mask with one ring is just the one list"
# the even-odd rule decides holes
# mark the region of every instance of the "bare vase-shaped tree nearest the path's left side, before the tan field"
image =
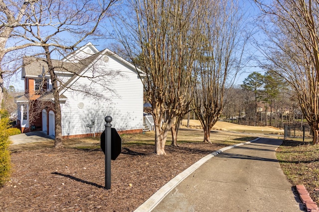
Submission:
[[210,1],[208,13],[205,40],[196,60],[198,83],[193,108],[204,129],[203,141],[210,143],[210,129],[222,112],[227,88],[240,70],[247,40],[235,1]]

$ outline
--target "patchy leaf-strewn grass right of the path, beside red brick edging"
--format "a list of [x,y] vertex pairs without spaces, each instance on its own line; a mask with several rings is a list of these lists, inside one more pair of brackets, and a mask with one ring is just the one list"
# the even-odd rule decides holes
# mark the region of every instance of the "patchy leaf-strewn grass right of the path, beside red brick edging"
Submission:
[[311,142],[284,141],[277,149],[282,170],[293,185],[304,185],[319,204],[319,145]]

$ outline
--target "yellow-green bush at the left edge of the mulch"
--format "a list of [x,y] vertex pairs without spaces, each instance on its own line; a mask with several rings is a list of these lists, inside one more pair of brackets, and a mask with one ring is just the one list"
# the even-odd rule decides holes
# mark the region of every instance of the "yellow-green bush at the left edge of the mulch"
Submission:
[[[10,140],[9,135],[16,130],[10,130],[9,119],[0,119],[0,186],[2,186],[10,177],[11,162],[10,152],[8,150]],[[10,132],[11,131],[11,132]]]

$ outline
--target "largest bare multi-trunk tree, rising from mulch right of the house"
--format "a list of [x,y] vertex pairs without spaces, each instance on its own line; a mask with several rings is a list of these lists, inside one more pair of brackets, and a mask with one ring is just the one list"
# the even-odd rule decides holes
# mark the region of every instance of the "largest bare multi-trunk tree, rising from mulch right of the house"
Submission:
[[[201,40],[206,1],[132,0],[118,37],[132,61],[145,72],[145,91],[155,121],[155,153],[164,155],[166,137],[187,108],[193,61]],[[127,8],[128,8],[127,7]],[[139,63],[137,63],[139,61]]]

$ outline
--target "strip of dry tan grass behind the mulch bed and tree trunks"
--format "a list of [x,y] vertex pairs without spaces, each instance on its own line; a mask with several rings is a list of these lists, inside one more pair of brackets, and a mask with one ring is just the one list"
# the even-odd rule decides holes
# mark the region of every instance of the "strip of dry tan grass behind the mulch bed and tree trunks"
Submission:
[[[203,131],[198,120],[190,120],[190,127],[186,128],[187,120],[183,120],[182,126],[178,131],[178,142],[201,142],[203,140]],[[242,132],[242,133],[240,133]],[[240,142],[245,142],[254,139],[255,135],[249,133],[261,133],[265,137],[277,138],[276,134],[282,134],[282,130],[275,129],[273,127],[254,127],[246,125],[238,125],[234,123],[228,123],[224,121],[217,121],[211,131],[211,142],[223,143],[225,145],[233,145]],[[270,135],[269,135],[270,134]],[[122,134],[123,143],[132,144],[148,144],[154,145],[154,131],[148,131],[143,133]],[[171,143],[171,134],[168,133],[166,145]],[[100,138],[80,138],[80,139],[64,139],[63,146],[66,148],[82,147],[82,148],[99,148]],[[11,151],[17,151],[22,149],[43,149],[52,148],[53,140],[11,145]]]

